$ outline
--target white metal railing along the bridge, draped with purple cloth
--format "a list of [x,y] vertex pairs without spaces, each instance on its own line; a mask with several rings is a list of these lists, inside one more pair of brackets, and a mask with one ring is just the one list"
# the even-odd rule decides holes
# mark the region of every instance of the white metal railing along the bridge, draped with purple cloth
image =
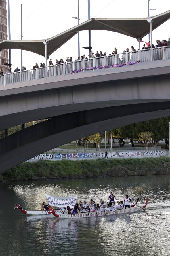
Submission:
[[[152,51],[152,54],[151,54]],[[91,67],[103,67],[125,64],[128,62],[151,62],[170,59],[170,46],[160,48],[144,49],[133,52],[119,53],[116,55],[108,55],[90,59],[83,59],[58,65],[51,65],[37,69],[24,70],[15,73],[0,75],[0,86],[24,81],[38,80],[46,77],[56,77],[68,75],[74,70],[85,69]],[[95,71],[95,70],[93,70]]]

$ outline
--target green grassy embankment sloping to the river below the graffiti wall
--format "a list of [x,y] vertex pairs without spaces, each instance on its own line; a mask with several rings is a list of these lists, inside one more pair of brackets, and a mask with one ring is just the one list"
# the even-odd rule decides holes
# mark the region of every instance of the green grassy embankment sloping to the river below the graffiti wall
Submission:
[[0,181],[155,174],[170,174],[169,157],[26,162],[1,174]]

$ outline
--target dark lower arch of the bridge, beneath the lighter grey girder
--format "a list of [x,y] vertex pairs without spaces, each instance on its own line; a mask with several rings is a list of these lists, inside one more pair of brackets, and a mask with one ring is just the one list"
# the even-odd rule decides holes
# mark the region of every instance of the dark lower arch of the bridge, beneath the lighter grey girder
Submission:
[[0,140],[0,172],[77,138],[165,116],[170,116],[170,101],[95,108],[53,117]]

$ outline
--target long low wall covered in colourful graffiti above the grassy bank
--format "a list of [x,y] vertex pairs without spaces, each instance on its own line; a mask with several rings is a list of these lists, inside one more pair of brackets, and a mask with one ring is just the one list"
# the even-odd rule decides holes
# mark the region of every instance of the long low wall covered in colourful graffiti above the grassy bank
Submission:
[[[165,151],[121,151],[109,152],[108,158],[119,157],[142,157],[142,156],[165,156]],[[91,153],[56,153],[56,154],[40,154],[31,158],[32,160],[62,160],[62,159],[92,159],[92,158],[105,158],[103,152]]]

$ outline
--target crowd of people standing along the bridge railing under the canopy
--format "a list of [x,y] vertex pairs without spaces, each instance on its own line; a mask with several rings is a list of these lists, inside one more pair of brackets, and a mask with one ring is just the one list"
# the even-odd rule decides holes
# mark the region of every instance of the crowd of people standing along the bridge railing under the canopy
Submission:
[[[141,41],[141,42],[144,42],[144,41]],[[156,40],[156,45],[152,44],[152,48],[159,48],[159,47],[163,47],[163,46],[170,46],[170,38],[168,39],[168,41],[167,40],[162,40],[162,41]],[[150,45],[150,41],[149,41],[148,43],[145,42],[145,44],[143,44],[142,50],[148,50],[150,48],[151,48],[151,45]],[[137,49],[137,50],[139,50],[139,49]],[[132,53],[137,52],[137,50],[133,46],[131,46],[131,52]],[[117,51],[118,50],[115,47],[114,50],[112,51],[112,54],[109,53],[108,56],[109,55],[116,55]],[[129,48],[126,48],[126,50],[124,50],[123,53],[129,53]],[[102,51],[100,51],[100,52],[97,51],[94,54],[94,52],[91,51],[88,55],[89,59],[96,58],[96,57],[103,57],[103,56],[106,56],[106,52],[102,53]],[[82,61],[83,59],[88,59],[88,57],[85,56],[85,54],[84,54],[83,56],[78,56],[78,58],[75,59],[75,61]],[[66,60],[66,63],[73,62],[72,57],[69,58],[67,56],[65,60]],[[55,61],[55,65],[59,65],[59,64],[63,64],[63,63],[65,63],[63,61],[63,59],[60,59],[60,60],[56,59],[56,61]],[[54,66],[54,64],[52,62],[52,59],[49,60],[49,66]],[[33,66],[33,69],[43,68],[43,67],[45,67],[45,63],[41,62],[40,66],[38,66],[38,63],[35,63],[35,65]],[[14,73],[20,72],[20,71],[26,71],[26,67],[23,66],[21,70],[18,67],[16,67],[16,69],[14,70]],[[10,73],[12,73],[12,68],[11,67],[7,70],[6,74],[10,74]],[[2,69],[0,70],[0,75],[3,75]]]

